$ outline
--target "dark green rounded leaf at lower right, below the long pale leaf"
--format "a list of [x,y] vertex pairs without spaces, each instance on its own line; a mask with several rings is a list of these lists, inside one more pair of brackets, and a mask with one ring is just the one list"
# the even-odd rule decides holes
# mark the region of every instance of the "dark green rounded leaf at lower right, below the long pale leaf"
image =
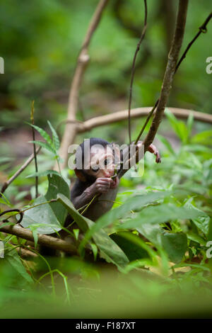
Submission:
[[164,232],[160,235],[161,243],[170,260],[179,263],[187,250],[187,235],[184,232]]

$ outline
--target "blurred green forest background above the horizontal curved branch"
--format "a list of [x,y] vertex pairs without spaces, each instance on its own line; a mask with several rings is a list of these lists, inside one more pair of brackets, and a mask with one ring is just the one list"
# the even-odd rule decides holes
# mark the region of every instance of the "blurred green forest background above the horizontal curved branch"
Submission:
[[[57,125],[66,118],[76,59],[97,0],[1,1],[0,123],[25,126],[30,101],[36,121]],[[175,25],[177,1],[148,0],[148,30],[137,57],[132,107],[152,106],[159,96]],[[90,64],[81,89],[78,119],[127,108],[131,63],[143,28],[143,1],[109,1],[90,45]],[[210,13],[208,0],[190,1],[182,50]],[[212,28],[201,34],[175,77],[169,105],[211,112]],[[109,130],[109,132],[108,132]],[[107,136],[114,130],[107,128]],[[126,133],[125,133],[126,134]]]

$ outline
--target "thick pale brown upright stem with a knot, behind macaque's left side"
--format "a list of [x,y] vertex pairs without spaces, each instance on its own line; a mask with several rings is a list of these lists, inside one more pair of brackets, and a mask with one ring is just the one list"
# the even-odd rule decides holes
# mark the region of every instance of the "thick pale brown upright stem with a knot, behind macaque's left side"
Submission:
[[[78,108],[78,94],[79,89],[81,87],[81,81],[83,79],[83,74],[86,69],[86,64],[88,64],[89,55],[88,55],[88,46],[90,44],[90,40],[93,36],[93,33],[95,32],[95,29],[98,27],[98,24],[100,22],[100,18],[102,16],[102,11],[105,9],[105,6],[107,6],[108,0],[100,0],[98,3],[97,8],[95,9],[95,13],[93,14],[93,18],[90,21],[90,24],[88,26],[88,30],[86,33],[86,37],[83,41],[83,45],[81,47],[81,51],[78,55],[78,61],[76,64],[76,69],[73,74],[73,80],[71,83],[71,89],[69,93],[69,105],[68,105],[68,120],[76,120],[76,111]],[[69,145],[74,140],[74,137],[76,135],[76,126],[74,124],[71,125],[71,123],[66,123],[66,127],[64,130],[64,135],[61,140],[61,147],[59,149],[59,156],[64,159],[63,164],[61,164],[61,169],[64,169],[64,167],[67,164],[68,160],[68,148]],[[57,166],[54,166],[54,169],[58,169]]]

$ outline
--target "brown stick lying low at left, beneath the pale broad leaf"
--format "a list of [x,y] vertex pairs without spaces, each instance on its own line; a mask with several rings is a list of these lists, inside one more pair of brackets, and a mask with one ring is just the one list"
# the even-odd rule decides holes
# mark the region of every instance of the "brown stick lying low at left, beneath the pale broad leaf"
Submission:
[[[6,232],[7,234],[15,235],[17,237],[30,240],[34,242],[33,233],[20,225],[4,225],[4,222],[0,222],[0,232]],[[63,239],[55,238],[48,235],[38,235],[37,243],[50,247],[51,249],[58,249],[70,254],[77,254],[76,247]]]

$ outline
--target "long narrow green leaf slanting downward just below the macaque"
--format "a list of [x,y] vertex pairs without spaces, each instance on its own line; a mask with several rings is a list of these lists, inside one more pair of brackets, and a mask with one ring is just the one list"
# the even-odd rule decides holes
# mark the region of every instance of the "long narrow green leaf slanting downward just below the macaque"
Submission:
[[[95,222],[78,213],[78,210],[73,207],[73,203],[71,203],[68,198],[59,194],[57,199],[59,203],[62,203],[66,210],[68,210],[73,220],[75,220],[78,227],[83,230],[83,232],[86,232],[86,230],[95,225]],[[93,240],[100,249],[100,256],[108,262],[112,262],[120,268],[124,267],[129,262],[122,249],[120,249],[118,245],[110,239],[104,230],[96,232],[95,235],[93,235]],[[80,247],[80,249],[82,249],[82,247]]]

